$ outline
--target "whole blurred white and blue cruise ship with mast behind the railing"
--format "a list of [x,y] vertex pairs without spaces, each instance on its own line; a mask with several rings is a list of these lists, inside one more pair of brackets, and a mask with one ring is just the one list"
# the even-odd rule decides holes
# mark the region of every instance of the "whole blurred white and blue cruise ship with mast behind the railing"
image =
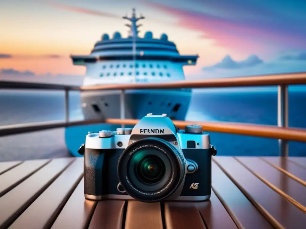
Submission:
[[[124,16],[130,24],[123,38],[114,32],[110,38],[103,34],[89,55],[71,55],[74,65],[86,66],[84,86],[138,82],[169,82],[185,80],[184,65],[195,65],[198,55],[181,55],[166,34],[153,38],[147,31],[139,37],[137,22],[144,16]],[[85,119],[120,118],[120,91],[81,92]],[[162,114],[184,120],[191,100],[191,89],[127,90],[125,118],[140,119],[147,113]]]

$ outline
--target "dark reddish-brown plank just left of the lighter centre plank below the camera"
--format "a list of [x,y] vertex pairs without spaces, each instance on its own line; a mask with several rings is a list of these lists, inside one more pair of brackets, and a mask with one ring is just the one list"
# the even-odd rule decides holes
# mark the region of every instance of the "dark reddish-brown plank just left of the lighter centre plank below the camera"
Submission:
[[125,201],[123,200],[99,201],[88,229],[121,229],[124,211]]

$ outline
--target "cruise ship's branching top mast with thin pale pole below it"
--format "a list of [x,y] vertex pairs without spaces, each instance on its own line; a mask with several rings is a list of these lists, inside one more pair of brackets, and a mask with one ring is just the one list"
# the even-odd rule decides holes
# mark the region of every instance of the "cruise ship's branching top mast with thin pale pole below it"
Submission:
[[133,62],[134,62],[134,77],[133,83],[136,82],[136,38],[138,37],[138,27],[142,26],[142,24],[137,25],[136,22],[138,20],[144,19],[144,16],[140,14],[140,17],[136,17],[135,8],[132,9],[132,17],[124,16],[123,19],[129,20],[132,24],[125,24],[125,26],[130,28],[129,37],[132,37],[132,53],[133,53]]

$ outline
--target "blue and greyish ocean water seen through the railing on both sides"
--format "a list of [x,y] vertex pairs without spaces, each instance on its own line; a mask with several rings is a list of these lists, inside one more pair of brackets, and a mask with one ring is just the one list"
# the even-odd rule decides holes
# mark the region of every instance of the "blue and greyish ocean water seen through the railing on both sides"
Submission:
[[[71,92],[70,120],[83,119],[80,94]],[[63,92],[1,91],[0,125],[64,120]],[[277,93],[193,93],[186,120],[226,121],[277,125]],[[289,126],[306,128],[306,93],[289,93]],[[277,156],[278,140],[209,133],[218,155]],[[0,161],[69,156],[65,130],[0,137]],[[290,142],[290,156],[306,156],[306,144]]]

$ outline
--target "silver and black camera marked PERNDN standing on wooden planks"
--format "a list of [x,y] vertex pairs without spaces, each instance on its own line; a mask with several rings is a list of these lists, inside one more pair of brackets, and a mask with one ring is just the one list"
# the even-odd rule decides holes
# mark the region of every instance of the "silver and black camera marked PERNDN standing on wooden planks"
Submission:
[[147,114],[134,128],[89,132],[84,154],[86,199],[203,201],[211,196],[211,156],[202,126],[179,130],[166,114]]

